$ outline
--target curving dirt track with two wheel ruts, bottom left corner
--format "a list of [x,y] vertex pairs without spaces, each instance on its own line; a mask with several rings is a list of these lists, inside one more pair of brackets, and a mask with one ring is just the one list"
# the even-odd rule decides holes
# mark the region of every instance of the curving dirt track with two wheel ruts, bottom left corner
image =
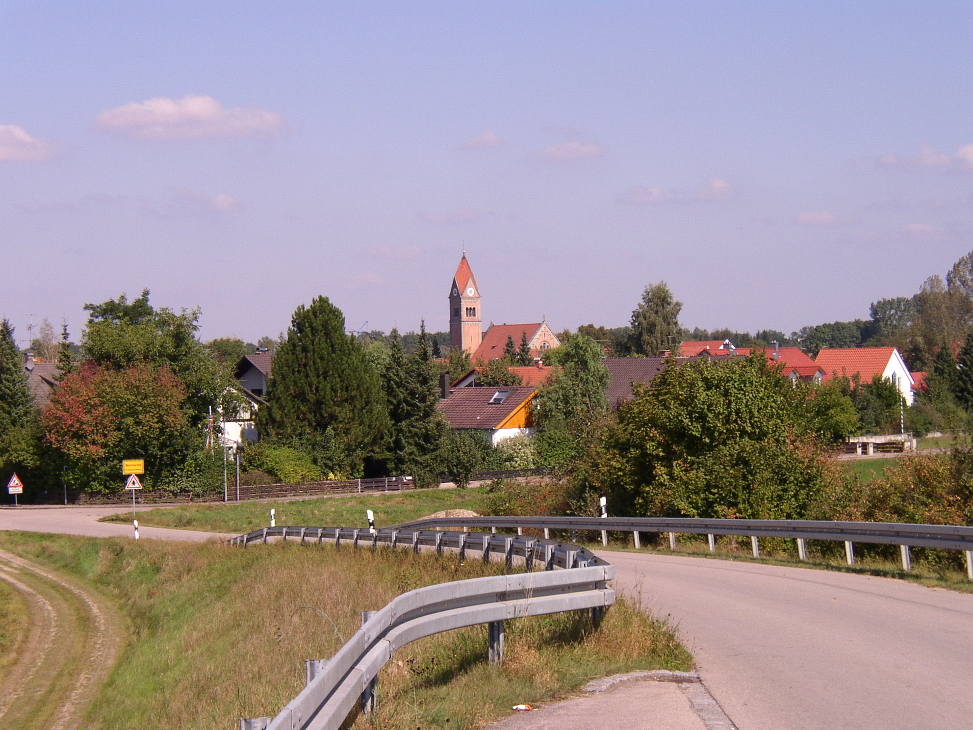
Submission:
[[0,580],[27,604],[29,626],[0,675],[4,730],[74,730],[124,641],[110,602],[70,578],[0,550]]

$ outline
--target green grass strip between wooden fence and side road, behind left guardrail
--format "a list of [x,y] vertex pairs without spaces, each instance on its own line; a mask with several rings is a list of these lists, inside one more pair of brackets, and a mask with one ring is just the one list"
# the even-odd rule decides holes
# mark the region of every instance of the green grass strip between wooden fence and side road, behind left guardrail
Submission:
[[[382,528],[444,509],[482,512],[485,503],[485,490],[412,490],[279,502],[183,504],[139,511],[137,519],[139,525],[156,528],[239,534],[270,525],[270,509],[276,510],[277,525],[329,528],[368,525],[365,510],[371,509],[375,512],[376,525]],[[102,522],[130,523],[131,513],[109,515]]]

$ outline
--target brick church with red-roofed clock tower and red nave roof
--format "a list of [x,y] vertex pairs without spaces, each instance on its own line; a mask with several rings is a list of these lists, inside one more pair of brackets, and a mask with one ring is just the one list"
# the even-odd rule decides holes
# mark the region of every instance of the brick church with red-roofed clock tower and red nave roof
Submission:
[[515,347],[521,347],[524,334],[530,354],[536,359],[542,359],[545,350],[560,346],[545,320],[528,324],[490,322],[484,332],[480,287],[464,251],[450,287],[450,347],[466,350],[474,364],[487,363],[503,357],[508,338],[513,339]]

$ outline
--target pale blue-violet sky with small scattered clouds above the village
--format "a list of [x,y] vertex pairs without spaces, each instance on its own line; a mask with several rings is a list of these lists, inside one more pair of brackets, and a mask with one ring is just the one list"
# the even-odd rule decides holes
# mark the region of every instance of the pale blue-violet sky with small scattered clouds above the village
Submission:
[[0,316],[867,317],[973,249],[973,6],[0,0]]

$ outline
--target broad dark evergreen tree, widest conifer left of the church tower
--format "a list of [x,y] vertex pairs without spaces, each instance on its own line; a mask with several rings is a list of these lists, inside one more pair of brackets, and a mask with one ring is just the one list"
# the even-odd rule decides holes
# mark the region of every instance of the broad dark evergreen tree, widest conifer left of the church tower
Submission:
[[378,373],[327,297],[295,310],[274,353],[261,433],[300,444],[325,473],[362,473],[382,443],[388,415]]

